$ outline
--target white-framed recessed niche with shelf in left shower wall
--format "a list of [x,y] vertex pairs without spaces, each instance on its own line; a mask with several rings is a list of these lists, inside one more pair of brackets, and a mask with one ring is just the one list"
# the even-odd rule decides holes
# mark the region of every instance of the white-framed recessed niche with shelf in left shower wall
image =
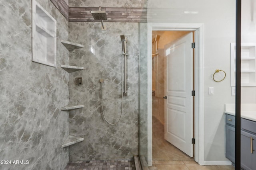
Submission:
[[32,61],[56,67],[56,20],[32,0]]

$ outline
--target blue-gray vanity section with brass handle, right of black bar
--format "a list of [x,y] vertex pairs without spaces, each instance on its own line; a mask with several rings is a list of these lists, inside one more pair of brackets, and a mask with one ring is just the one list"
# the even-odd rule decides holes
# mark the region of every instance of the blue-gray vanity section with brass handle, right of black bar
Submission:
[[256,168],[256,122],[241,119],[241,167],[245,170]]

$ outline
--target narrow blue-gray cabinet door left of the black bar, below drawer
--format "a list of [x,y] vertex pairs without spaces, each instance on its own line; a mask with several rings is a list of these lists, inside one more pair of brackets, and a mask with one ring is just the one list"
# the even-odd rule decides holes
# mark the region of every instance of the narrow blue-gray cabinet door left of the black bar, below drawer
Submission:
[[226,158],[235,163],[235,127],[226,125]]

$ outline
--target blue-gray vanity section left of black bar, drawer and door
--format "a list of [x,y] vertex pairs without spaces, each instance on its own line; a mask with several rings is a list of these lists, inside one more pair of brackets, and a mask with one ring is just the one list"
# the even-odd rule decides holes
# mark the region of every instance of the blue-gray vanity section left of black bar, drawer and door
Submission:
[[235,162],[235,116],[226,114],[226,158]]

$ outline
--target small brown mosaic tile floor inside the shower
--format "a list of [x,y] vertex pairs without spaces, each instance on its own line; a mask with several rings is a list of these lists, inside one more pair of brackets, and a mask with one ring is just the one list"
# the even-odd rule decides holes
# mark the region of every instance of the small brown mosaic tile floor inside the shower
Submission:
[[64,170],[136,170],[133,160],[70,161]]

